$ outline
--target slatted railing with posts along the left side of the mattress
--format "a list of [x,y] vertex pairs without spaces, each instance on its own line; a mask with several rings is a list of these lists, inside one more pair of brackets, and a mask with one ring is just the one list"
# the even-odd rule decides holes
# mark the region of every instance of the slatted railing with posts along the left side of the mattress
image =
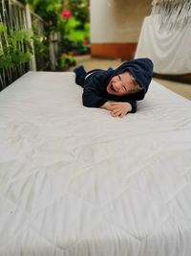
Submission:
[[[32,31],[39,37],[38,42],[32,42],[33,56],[30,61],[19,63],[15,67],[0,67],[0,90],[8,86],[12,81],[21,77],[29,70],[55,70],[58,56],[58,40],[53,40],[53,36],[47,35],[47,24],[41,17],[30,11],[29,5],[23,5],[16,0],[0,0],[0,24],[5,24],[6,31],[0,34],[0,52],[4,52],[9,44],[9,35],[15,31]],[[42,51],[43,45],[43,51]],[[21,50],[26,50],[25,43],[20,42]]]

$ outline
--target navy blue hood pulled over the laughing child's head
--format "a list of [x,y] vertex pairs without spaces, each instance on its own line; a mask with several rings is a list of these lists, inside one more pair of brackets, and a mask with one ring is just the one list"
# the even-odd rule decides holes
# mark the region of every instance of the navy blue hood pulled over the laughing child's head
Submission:
[[138,85],[142,88],[135,96],[137,100],[142,100],[148,90],[153,76],[153,62],[150,58],[135,58],[122,63],[114,70],[112,77],[129,71]]

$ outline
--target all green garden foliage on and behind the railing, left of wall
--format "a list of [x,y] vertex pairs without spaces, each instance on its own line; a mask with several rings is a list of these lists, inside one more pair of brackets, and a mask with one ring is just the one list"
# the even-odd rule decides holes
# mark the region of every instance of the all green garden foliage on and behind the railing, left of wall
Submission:
[[[14,69],[27,63],[34,54],[50,70],[49,38],[51,33],[60,34],[58,70],[66,70],[74,65],[75,55],[89,52],[90,16],[89,0],[20,0],[30,4],[32,12],[37,13],[46,22],[45,35],[36,33],[35,21],[32,31],[10,31],[5,23],[0,23],[0,39],[3,48],[0,50],[0,69]],[[37,63],[38,65],[38,63]],[[38,69],[39,70],[39,69]]]

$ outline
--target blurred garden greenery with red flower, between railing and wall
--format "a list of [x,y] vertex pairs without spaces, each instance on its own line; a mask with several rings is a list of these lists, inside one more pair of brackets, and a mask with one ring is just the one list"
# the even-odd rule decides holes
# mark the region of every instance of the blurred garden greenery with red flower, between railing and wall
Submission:
[[[90,50],[90,15],[88,0],[28,0],[33,12],[49,23],[47,36],[60,33],[60,69],[74,64],[74,55]],[[45,49],[44,49],[45,50]],[[40,49],[43,54],[42,49]]]

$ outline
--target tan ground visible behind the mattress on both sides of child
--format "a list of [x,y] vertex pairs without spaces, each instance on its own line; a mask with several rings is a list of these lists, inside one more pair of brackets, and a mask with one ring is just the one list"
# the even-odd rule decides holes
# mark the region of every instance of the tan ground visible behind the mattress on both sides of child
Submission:
[[[103,59],[103,58],[91,58],[90,56],[76,57],[76,65],[84,65],[86,70],[91,70],[95,68],[107,69],[108,67],[116,68],[120,63],[120,59]],[[74,69],[71,68],[71,71]],[[180,94],[184,98],[191,100],[191,84],[181,83],[176,81],[166,81],[161,79],[155,79],[160,84],[169,88],[170,90]]]

